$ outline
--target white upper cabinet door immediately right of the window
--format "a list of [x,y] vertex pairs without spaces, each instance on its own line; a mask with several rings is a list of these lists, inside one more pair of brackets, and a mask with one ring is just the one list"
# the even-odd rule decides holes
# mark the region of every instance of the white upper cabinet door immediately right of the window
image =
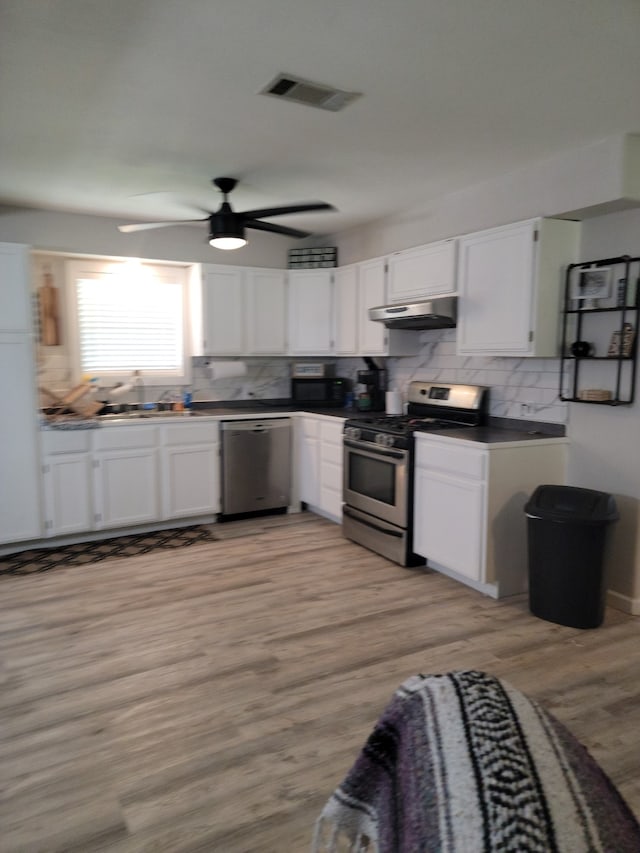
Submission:
[[202,309],[205,355],[245,355],[245,285],[238,267],[203,269]]

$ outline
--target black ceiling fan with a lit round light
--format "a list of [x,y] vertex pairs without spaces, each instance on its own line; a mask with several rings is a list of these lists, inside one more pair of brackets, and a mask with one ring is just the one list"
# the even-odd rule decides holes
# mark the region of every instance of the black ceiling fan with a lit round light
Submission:
[[[262,217],[283,216],[287,213],[303,213],[310,210],[335,210],[335,207],[325,202],[310,202],[308,204],[288,204],[284,207],[265,207],[258,210],[245,210],[235,213],[227,201],[227,196],[238,183],[235,178],[214,178],[213,184],[224,196],[224,201],[215,213],[207,213],[202,219],[183,219],[179,222],[146,222],[139,225],[118,225],[118,231],[128,234],[132,231],[147,231],[152,228],[166,228],[170,225],[184,225],[186,222],[208,222],[209,243],[216,249],[239,249],[245,246],[245,228],[255,228],[257,231],[271,231],[274,234],[284,234],[286,237],[309,237],[308,231],[297,228],[287,228],[272,222],[262,222]],[[202,211],[206,213],[206,211]]]

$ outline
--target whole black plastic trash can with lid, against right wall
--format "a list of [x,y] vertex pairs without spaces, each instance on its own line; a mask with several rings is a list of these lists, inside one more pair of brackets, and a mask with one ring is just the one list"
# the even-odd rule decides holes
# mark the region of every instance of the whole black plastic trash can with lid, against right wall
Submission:
[[529,609],[571,628],[604,619],[604,551],[618,519],[611,495],[573,486],[538,486],[524,511],[529,552]]

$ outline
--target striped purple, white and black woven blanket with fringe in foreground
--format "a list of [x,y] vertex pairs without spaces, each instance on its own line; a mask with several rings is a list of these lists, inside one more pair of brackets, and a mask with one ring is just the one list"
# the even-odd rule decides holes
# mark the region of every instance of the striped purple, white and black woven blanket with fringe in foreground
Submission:
[[396,691],[313,850],[638,853],[640,826],[549,713],[497,678],[453,672]]

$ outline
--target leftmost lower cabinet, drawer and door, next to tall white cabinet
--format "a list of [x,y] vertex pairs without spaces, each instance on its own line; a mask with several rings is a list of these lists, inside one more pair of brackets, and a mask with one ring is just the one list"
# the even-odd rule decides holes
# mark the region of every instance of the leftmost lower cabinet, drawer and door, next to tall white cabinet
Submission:
[[93,464],[91,431],[43,432],[45,536],[91,530]]

